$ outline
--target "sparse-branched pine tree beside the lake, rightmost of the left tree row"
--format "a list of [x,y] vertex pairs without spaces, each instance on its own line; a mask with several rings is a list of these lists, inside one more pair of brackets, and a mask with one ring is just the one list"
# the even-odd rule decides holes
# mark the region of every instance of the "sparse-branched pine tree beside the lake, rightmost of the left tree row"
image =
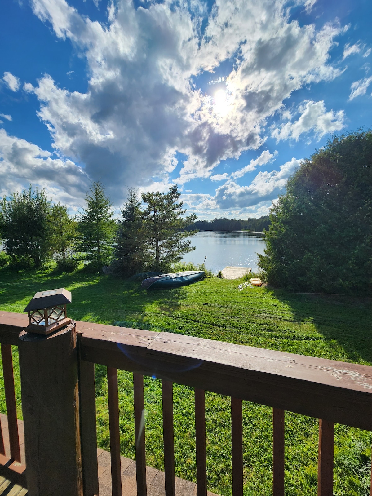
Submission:
[[147,204],[143,212],[143,225],[146,232],[148,257],[156,270],[166,268],[167,264],[178,262],[182,255],[195,249],[191,247],[189,236],[197,233],[186,231],[193,224],[196,215],[182,217],[186,213],[184,203],[178,203],[181,193],[177,185],[170,186],[167,193],[142,193],[142,200]]

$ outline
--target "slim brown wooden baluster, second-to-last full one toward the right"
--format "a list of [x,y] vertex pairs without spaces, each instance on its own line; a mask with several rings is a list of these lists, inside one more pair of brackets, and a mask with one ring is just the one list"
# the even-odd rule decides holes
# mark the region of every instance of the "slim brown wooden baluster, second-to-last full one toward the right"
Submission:
[[273,496],[284,496],[284,410],[273,408]]

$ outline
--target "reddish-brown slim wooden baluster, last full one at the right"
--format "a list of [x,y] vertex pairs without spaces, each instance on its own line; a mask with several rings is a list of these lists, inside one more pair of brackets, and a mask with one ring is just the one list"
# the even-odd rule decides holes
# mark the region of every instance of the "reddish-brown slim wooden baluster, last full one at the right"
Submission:
[[334,423],[319,420],[318,496],[333,495]]

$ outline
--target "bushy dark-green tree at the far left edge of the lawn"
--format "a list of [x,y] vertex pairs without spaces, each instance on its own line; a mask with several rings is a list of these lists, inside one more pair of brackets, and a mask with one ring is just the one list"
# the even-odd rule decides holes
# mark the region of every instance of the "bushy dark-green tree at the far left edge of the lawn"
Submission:
[[32,186],[0,200],[0,237],[12,264],[40,268],[49,254],[51,201]]

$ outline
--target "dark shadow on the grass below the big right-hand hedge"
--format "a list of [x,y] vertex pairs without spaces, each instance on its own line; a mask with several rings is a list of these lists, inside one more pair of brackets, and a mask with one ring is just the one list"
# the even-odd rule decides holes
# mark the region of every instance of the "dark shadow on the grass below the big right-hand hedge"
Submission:
[[[312,323],[336,360],[372,365],[372,299],[305,295],[268,288],[295,322]],[[342,349],[342,351],[340,350]],[[343,355],[338,357],[337,355]]]

